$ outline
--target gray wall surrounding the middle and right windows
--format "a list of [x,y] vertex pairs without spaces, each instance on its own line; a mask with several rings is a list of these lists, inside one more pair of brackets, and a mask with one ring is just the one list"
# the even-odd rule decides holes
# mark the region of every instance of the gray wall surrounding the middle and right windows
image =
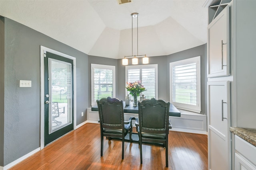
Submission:
[[[206,114],[206,44],[194,47],[192,49],[180,51],[168,56],[149,57],[149,63],[158,64],[158,98],[165,101],[170,101],[170,63],[197,56],[201,56],[201,113]],[[132,63],[131,59],[129,59],[128,63]],[[142,59],[140,58],[139,64],[142,64]],[[120,100],[124,100],[125,98],[125,85],[125,66],[122,65],[122,59],[118,59],[118,94],[116,97]]]

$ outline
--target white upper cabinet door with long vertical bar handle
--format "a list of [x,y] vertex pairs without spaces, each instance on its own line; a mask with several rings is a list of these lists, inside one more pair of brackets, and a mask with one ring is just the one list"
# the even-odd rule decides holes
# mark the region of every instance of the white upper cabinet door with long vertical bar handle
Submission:
[[229,6],[208,25],[208,77],[230,75]]

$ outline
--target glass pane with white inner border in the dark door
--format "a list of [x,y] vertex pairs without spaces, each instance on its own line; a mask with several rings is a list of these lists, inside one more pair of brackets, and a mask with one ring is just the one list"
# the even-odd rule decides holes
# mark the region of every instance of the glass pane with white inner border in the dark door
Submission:
[[71,64],[49,59],[49,87],[52,104],[49,107],[49,134],[72,123]]

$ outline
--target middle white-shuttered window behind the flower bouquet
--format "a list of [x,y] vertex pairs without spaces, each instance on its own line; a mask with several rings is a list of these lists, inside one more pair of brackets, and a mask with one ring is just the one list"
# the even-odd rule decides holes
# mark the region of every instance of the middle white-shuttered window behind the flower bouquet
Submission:
[[[125,66],[126,82],[141,81],[141,84],[146,88],[142,92],[146,99],[158,98],[157,94],[157,64]],[[125,86],[127,86],[125,82]],[[126,94],[129,92],[126,90]]]

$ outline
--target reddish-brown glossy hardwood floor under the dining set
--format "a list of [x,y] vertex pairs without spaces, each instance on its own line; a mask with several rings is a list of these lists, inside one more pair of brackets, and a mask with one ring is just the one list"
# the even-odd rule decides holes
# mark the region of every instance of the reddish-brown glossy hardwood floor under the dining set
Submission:
[[170,131],[169,167],[165,167],[165,148],[104,138],[100,157],[100,125],[87,123],[48,145],[11,170],[207,170],[207,136]]

